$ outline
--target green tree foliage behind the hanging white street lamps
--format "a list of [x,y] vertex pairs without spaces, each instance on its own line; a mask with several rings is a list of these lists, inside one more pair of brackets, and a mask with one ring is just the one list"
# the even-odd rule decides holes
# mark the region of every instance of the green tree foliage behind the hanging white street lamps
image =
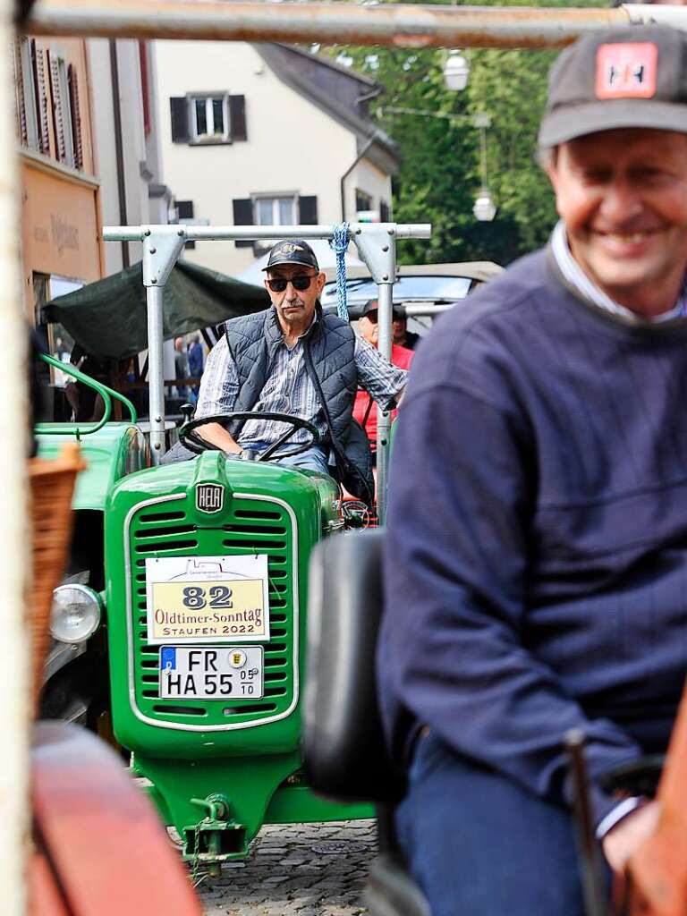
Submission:
[[[511,4],[499,0],[498,5]],[[522,5],[521,0],[512,5]],[[588,4],[549,0],[546,5]],[[344,57],[381,87],[370,112],[401,154],[393,180],[394,220],[433,226],[431,242],[399,243],[401,263],[507,264],[546,241],[556,213],[549,180],[537,162],[537,132],[556,52],[465,50],[470,77],[463,93],[446,89],[442,67],[447,52],[441,49],[347,47],[328,53]],[[401,114],[394,108],[439,116]],[[491,119],[486,183],[498,207],[493,223],[478,223],[473,214],[481,184],[476,114]]]

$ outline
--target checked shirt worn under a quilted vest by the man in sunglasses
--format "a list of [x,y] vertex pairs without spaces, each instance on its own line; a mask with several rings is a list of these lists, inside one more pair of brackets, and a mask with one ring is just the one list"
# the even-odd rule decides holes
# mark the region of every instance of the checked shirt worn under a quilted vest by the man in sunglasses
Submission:
[[[310,420],[326,442],[329,438],[327,422],[303,359],[304,336],[301,335],[290,349],[284,343],[278,346],[267,382],[253,409],[265,413],[289,413]],[[408,373],[388,363],[376,347],[362,337],[355,338],[355,366],[358,386],[365,388],[384,409],[393,408],[406,385]],[[238,389],[236,365],[223,336],[213,346],[202,374],[196,418],[230,413],[234,409]],[[284,431],[284,424],[274,420],[248,420],[241,429],[238,442],[242,448],[258,444],[265,446],[278,439]],[[305,442],[309,436],[307,430],[296,431],[285,443],[284,449],[289,449],[294,442]]]

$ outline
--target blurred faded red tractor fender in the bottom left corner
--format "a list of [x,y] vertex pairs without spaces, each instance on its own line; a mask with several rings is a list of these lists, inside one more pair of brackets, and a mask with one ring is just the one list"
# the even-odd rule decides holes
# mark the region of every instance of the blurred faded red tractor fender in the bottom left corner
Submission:
[[111,748],[75,725],[38,723],[32,782],[31,916],[202,916],[156,813]]

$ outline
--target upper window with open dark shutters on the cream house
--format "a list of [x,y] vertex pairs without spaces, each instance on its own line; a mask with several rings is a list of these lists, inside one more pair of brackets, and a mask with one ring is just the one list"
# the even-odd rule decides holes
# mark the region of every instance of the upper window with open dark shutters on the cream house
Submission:
[[245,97],[188,93],[169,99],[172,143],[236,143],[247,139]]

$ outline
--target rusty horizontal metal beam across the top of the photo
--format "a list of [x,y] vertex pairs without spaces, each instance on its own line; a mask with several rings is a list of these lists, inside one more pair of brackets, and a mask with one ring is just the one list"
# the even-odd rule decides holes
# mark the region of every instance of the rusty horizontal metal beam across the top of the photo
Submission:
[[[685,18],[669,6],[673,18]],[[641,13],[640,10],[649,11]],[[212,0],[38,0],[35,35],[322,42],[401,48],[561,47],[594,29],[657,18],[660,7],[561,9]],[[678,11],[677,13],[675,11]],[[660,15],[660,14],[658,14]]]

